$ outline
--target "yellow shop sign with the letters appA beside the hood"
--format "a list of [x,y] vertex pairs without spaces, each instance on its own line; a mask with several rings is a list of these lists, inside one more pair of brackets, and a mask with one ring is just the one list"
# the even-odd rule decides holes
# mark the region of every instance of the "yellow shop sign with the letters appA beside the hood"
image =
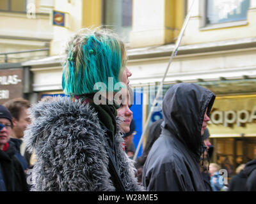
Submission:
[[211,137],[256,136],[256,94],[217,97],[210,118]]

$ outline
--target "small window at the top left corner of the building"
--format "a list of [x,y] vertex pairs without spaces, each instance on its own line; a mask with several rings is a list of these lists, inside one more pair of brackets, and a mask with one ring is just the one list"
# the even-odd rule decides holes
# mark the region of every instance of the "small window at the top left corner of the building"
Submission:
[[26,0],[1,0],[0,10],[2,11],[26,11]]

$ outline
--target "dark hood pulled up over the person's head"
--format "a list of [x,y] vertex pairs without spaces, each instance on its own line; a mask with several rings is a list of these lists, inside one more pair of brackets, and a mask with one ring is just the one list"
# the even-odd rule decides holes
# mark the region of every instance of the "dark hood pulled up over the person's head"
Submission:
[[175,84],[163,99],[164,128],[168,129],[199,159],[204,151],[201,135],[204,113],[211,112],[215,95],[196,84]]

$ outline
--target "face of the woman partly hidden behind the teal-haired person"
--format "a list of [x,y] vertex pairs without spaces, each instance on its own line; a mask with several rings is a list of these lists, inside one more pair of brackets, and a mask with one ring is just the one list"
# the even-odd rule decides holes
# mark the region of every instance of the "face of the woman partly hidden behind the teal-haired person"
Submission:
[[128,133],[130,131],[130,124],[132,120],[132,111],[129,108],[129,94],[127,94],[124,101],[125,102],[121,104],[120,108],[118,108],[116,111],[118,117],[122,117],[122,119],[124,119],[124,122],[120,124],[120,128],[122,128],[125,133]]

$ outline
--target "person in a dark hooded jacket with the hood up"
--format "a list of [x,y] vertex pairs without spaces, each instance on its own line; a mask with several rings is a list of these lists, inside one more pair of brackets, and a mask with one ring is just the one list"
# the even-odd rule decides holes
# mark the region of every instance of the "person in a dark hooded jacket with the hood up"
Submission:
[[214,99],[211,91],[196,84],[176,84],[166,92],[162,133],[143,168],[147,191],[205,191],[199,166],[205,150],[202,130]]

